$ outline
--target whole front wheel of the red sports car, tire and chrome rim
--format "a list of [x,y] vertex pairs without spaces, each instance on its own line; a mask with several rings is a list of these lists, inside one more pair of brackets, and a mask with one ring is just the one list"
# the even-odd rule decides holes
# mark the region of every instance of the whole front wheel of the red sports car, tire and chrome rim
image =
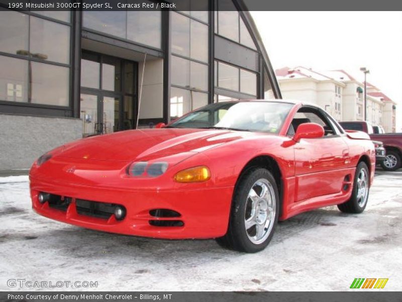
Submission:
[[272,174],[251,168],[241,176],[234,192],[227,234],[219,245],[255,253],[271,241],[279,216],[279,193]]

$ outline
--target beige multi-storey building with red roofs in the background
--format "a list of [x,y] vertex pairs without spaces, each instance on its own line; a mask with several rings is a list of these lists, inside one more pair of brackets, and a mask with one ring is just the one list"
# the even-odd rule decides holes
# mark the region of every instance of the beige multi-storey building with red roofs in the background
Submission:
[[[315,71],[297,66],[276,70],[282,97],[317,104],[338,121],[364,120],[364,83],[344,70]],[[396,103],[367,83],[367,121],[395,132]]]

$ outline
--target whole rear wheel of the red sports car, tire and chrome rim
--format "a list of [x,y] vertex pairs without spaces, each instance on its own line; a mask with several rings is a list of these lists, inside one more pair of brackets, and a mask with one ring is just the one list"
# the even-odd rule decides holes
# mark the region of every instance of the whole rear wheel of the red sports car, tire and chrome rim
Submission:
[[369,189],[370,174],[366,163],[360,162],[356,167],[352,196],[348,201],[338,204],[338,209],[344,213],[363,212],[367,205]]

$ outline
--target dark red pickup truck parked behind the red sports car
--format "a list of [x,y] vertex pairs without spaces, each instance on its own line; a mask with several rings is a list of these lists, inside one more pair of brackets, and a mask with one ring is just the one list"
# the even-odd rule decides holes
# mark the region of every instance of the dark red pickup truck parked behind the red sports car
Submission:
[[374,133],[370,123],[364,121],[340,122],[345,130],[366,132],[374,141],[382,141],[386,155],[380,163],[382,169],[395,171],[402,167],[402,133]]

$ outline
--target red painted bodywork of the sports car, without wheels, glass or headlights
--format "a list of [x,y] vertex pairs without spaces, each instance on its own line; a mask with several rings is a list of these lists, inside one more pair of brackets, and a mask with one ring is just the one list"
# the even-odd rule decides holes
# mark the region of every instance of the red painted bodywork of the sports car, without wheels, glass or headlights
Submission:
[[[128,130],[84,138],[54,149],[52,158],[30,171],[32,205],[39,214],[84,228],[165,239],[216,238],[226,234],[233,191],[239,175],[257,157],[269,156],[280,170],[280,219],[318,207],[345,202],[359,160],[370,163],[375,152],[370,140],[346,134],[295,142],[285,135],[294,104],[278,134],[207,129]],[[158,177],[127,175],[132,162],[163,161],[167,171]],[[174,175],[204,165],[211,178],[178,183]],[[345,186],[346,185],[346,186]],[[347,189],[344,189],[346,188]],[[66,210],[41,204],[39,192],[72,198]],[[124,205],[123,220],[78,214],[78,199]],[[170,209],[180,217],[158,218],[153,209]],[[150,220],[181,220],[182,226],[155,226]]]

